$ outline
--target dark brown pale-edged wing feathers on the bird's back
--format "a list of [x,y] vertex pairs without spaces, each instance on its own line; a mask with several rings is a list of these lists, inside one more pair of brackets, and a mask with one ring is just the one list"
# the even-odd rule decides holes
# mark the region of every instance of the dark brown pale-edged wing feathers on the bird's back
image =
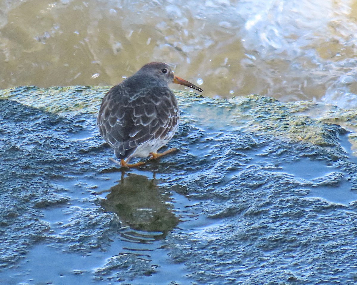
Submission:
[[136,91],[114,86],[105,95],[97,117],[101,136],[116,156],[129,157],[147,141],[165,138],[175,128],[179,111],[175,95],[165,86]]

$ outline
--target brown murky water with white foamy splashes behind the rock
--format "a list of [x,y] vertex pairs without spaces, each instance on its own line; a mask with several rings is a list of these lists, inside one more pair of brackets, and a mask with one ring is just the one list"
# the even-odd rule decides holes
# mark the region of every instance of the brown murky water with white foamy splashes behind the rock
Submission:
[[2,0],[0,88],[114,85],[165,61],[205,96],[355,107],[356,17],[355,0]]

